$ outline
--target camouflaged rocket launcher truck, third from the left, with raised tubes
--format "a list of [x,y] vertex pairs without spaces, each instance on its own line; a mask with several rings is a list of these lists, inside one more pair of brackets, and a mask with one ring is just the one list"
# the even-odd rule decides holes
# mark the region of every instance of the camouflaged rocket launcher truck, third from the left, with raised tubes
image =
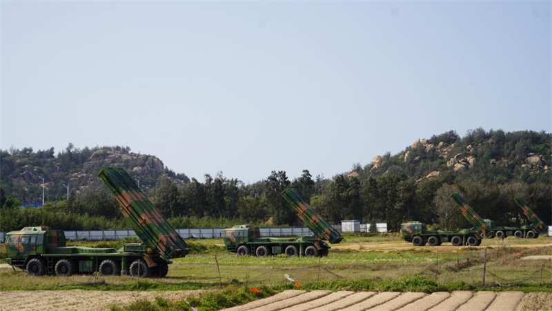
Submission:
[[460,207],[462,215],[474,226],[471,229],[460,229],[456,231],[428,230],[422,222],[407,222],[401,224],[401,237],[406,242],[412,242],[414,246],[440,246],[442,243],[450,242],[453,246],[479,246],[482,242],[482,234],[489,228],[482,221],[481,217],[473,211],[466,201],[458,194],[453,193],[451,200]]

